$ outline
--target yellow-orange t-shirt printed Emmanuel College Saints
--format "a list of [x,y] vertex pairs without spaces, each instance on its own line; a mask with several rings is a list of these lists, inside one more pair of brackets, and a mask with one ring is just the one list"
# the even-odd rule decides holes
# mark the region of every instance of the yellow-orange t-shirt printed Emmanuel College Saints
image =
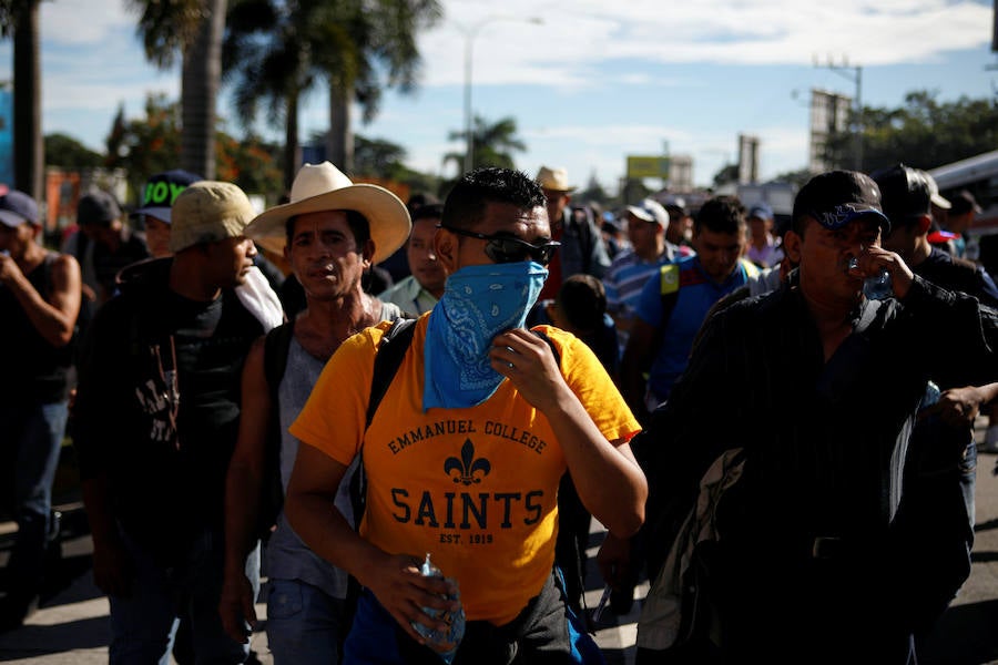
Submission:
[[[393,554],[432,561],[458,581],[469,621],[512,621],[554,564],[558,483],[566,471],[548,419],[502,381],[483,403],[422,412],[429,314],[416,324],[396,379],[367,432],[375,349],[390,323],[345,341],[291,432],[343,464],[364,439],[367,509],[360,534]],[[640,429],[589,347],[542,327],[561,371],[609,441]]]

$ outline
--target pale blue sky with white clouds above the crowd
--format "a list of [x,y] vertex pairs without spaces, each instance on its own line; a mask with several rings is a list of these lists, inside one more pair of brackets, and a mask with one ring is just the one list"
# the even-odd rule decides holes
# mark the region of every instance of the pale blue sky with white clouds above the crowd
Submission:
[[[464,126],[465,45],[472,50],[472,106],[512,116],[528,151],[517,166],[564,166],[584,186],[615,192],[628,155],[691,155],[710,183],[737,150],[761,140],[763,178],[807,163],[813,88],[852,95],[862,66],[866,105],[898,106],[906,92],[940,101],[998,94],[991,0],[444,0],[445,19],[420,38],[420,86],[386,93],[378,116],[355,130],[403,145],[407,163],[452,175],[445,153]],[[498,11],[497,11],[498,10]],[[532,20],[539,20],[534,23]],[[54,0],[41,9],[43,131],[101,150],[119,104],[139,116],[149,92],[179,95],[176,69],[145,62],[122,0]],[[818,64],[816,65],[815,62]],[[0,81],[11,48],[0,42]],[[220,113],[242,133],[223,89]],[[305,99],[302,136],[326,129],[327,96]],[[278,137],[259,122],[257,131]],[[994,150],[981,145],[980,151]],[[934,164],[923,165],[925,167]]]

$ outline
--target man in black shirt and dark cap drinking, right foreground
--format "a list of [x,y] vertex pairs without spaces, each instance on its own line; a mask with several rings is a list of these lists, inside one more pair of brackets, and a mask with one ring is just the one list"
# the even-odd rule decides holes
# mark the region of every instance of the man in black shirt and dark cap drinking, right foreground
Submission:
[[[812,178],[786,234],[788,250],[800,253],[798,279],[710,318],[669,401],[639,437],[649,541],[664,544],[659,554],[680,532],[707,468],[744,456],[741,478],[703,518],[714,593],[700,600],[719,621],[697,626],[693,662],[706,652],[725,662],[914,663],[913,635],[969,574],[966,557],[950,567],[923,555],[966,552],[972,541],[966,521],[923,512],[944,503],[965,510],[959,474],[918,474],[916,488],[905,469],[930,378],[984,385],[998,377],[998,315],[915,275],[879,246],[889,231],[868,176]],[[882,272],[893,296],[869,300],[863,282]],[[926,354],[929,339],[947,354]],[[960,446],[936,452],[940,464],[963,463]],[[656,581],[646,608],[663,587]],[[655,643],[662,633],[653,618],[642,615],[639,648],[675,648]]]

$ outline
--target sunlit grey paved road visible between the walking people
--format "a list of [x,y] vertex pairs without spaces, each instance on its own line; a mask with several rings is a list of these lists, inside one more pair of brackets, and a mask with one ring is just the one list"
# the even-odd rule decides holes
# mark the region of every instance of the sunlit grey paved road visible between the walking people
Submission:
[[[991,474],[996,456],[980,456],[977,483],[977,538],[970,579],[940,620],[924,646],[923,665],[998,664],[998,478]],[[59,577],[41,610],[27,624],[0,634],[0,662],[32,665],[89,665],[108,662],[108,601],[94,587],[90,570],[91,542],[78,504],[64,507],[63,559]],[[12,525],[0,523],[0,563],[6,563]],[[595,555],[603,531],[593,524],[590,554]],[[587,575],[585,601],[599,602],[602,585],[592,570]],[[595,634],[610,665],[634,661],[635,622],[640,600],[648,590],[639,586],[639,602],[630,614],[604,615]],[[258,606],[265,616],[264,606]],[[254,633],[253,649],[259,662],[272,664],[266,635]]]

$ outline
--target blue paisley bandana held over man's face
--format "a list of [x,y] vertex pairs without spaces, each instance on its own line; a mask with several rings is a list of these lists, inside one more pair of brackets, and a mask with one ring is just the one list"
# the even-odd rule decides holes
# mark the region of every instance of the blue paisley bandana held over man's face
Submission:
[[447,278],[426,328],[422,410],[475,407],[503,377],[489,364],[496,335],[521,328],[548,270],[533,262],[468,266]]

